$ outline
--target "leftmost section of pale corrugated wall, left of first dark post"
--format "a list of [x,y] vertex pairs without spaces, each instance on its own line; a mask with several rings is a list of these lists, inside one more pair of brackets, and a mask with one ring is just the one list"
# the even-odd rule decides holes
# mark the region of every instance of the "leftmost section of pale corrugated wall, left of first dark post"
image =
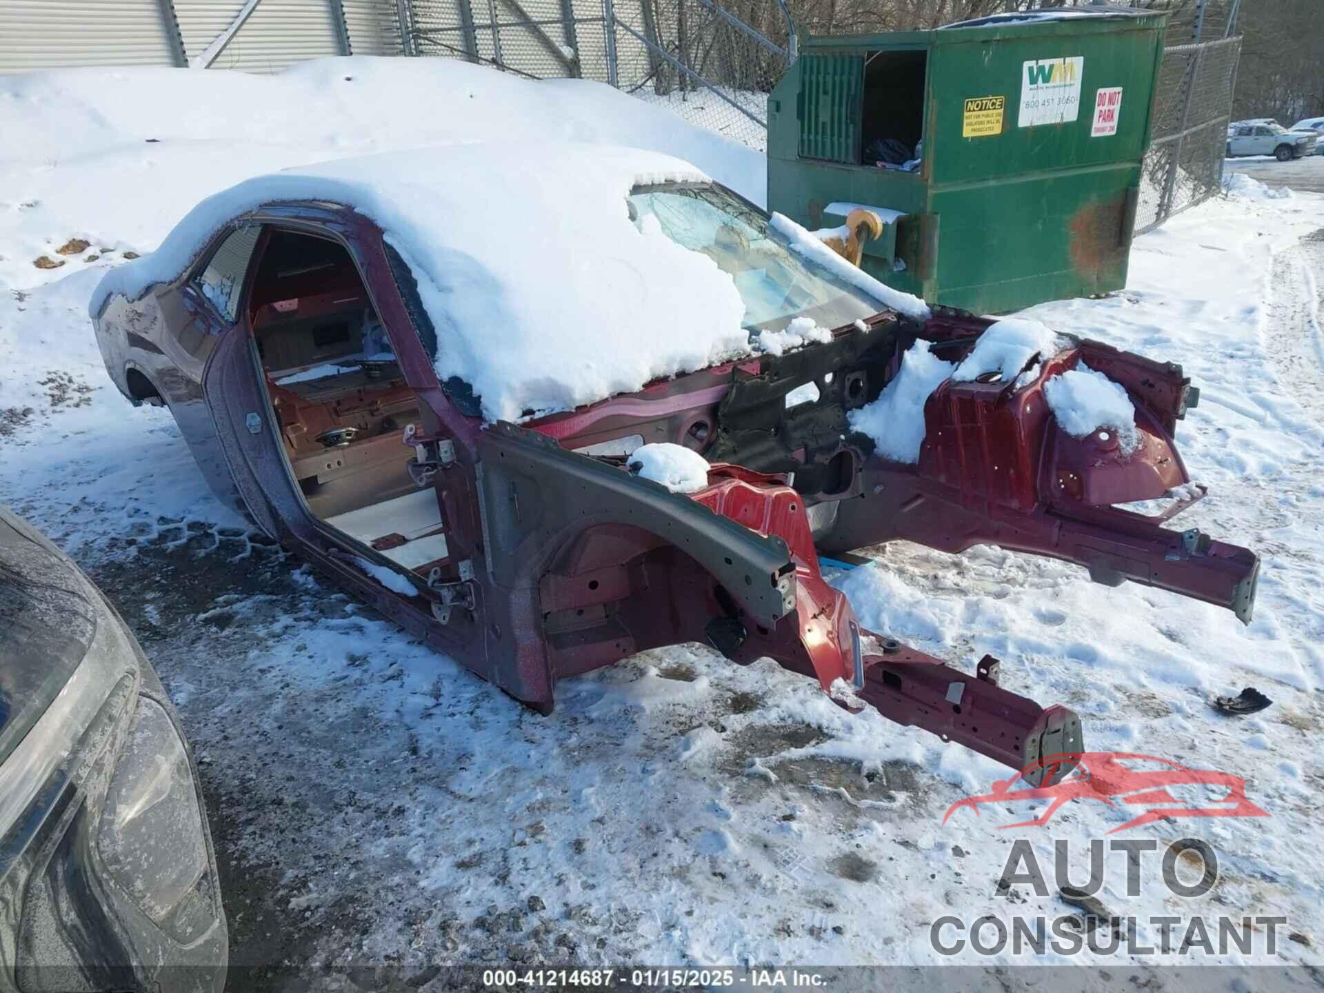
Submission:
[[160,0],[0,0],[0,73],[175,65]]

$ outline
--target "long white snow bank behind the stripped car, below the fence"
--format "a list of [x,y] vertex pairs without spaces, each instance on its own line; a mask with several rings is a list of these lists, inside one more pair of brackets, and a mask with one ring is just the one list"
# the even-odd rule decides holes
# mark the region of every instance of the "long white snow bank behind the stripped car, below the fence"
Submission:
[[[542,177],[548,143],[620,144],[692,162],[757,204],[767,192],[761,154],[663,107],[602,83],[530,81],[450,58],[319,58],[271,75],[0,74],[0,289],[105,266],[127,249],[146,254],[203,197],[241,180],[396,150],[515,143],[530,184],[555,181]],[[465,187],[478,205],[494,196],[482,176]],[[57,254],[71,237],[89,248]],[[64,265],[34,269],[42,254]]]

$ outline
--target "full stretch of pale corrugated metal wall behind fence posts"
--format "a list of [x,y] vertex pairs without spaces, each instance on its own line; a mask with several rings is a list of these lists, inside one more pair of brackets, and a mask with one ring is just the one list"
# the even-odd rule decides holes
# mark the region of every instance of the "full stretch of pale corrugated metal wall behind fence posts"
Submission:
[[[402,0],[410,54],[473,57],[536,77],[613,79],[602,0]],[[0,73],[78,65],[187,65],[248,0],[0,0]],[[401,0],[258,0],[212,69],[271,73],[306,58],[405,54]],[[616,16],[645,32],[642,4]],[[499,28],[494,29],[494,25]],[[620,60],[646,66],[634,36]]]

